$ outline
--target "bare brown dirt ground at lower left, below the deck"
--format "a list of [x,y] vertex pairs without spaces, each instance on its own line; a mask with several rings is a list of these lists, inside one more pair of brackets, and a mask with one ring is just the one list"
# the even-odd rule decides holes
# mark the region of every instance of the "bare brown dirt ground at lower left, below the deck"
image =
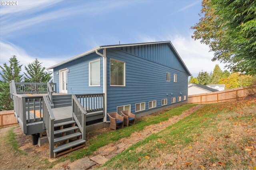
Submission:
[[[16,134],[15,139],[22,153],[16,152],[8,141],[8,134]],[[0,169],[40,169],[48,163],[49,145],[31,144],[31,137],[25,136],[20,127],[0,130]]]

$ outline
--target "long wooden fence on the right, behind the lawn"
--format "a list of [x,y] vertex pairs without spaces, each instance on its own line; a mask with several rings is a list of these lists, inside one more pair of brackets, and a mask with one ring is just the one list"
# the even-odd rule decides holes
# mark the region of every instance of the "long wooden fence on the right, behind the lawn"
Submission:
[[248,88],[234,88],[219,92],[190,95],[188,96],[188,103],[210,104],[231,102],[245,98],[246,96],[248,96]]

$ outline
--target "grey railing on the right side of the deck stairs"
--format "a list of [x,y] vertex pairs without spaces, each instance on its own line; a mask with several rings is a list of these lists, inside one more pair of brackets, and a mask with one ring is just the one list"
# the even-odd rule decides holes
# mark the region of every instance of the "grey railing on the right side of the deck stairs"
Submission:
[[82,133],[83,140],[86,138],[86,115],[87,112],[78,101],[76,95],[72,94],[72,119],[76,121],[76,124]]

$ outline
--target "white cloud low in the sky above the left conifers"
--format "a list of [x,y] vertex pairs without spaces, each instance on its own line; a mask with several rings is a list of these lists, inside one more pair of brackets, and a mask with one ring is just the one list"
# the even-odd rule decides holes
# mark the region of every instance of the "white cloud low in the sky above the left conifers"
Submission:
[[22,72],[25,72],[24,66],[28,65],[28,63],[32,63],[36,58],[38,58],[38,61],[40,61],[42,65],[46,68],[54,64],[60,63],[67,58],[70,58],[68,56],[64,56],[64,57],[55,57],[53,60],[45,59],[42,57],[29,55],[24,49],[12,43],[9,43],[6,41],[0,41],[0,65],[2,66],[3,63],[9,64],[9,59],[12,55],[16,55],[18,61],[20,61],[20,64],[23,65]]

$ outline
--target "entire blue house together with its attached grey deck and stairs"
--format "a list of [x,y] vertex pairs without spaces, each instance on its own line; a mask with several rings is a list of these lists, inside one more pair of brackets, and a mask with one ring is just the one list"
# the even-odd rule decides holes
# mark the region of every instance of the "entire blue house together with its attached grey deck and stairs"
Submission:
[[99,46],[47,69],[54,83],[12,80],[10,97],[33,145],[46,132],[51,158],[84,147],[86,130],[109,125],[107,113],[186,103],[191,76],[170,41]]

